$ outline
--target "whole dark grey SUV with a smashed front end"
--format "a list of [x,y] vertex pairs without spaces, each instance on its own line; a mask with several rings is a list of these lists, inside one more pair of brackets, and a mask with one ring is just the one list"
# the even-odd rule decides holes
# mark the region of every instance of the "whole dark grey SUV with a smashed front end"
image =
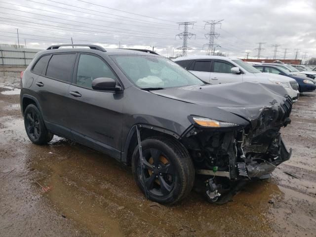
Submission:
[[52,45],[25,70],[20,103],[33,143],[56,134],[106,153],[159,203],[186,197],[195,180],[216,201],[291,156],[280,136],[292,109],[283,87],[209,85],[154,53]]

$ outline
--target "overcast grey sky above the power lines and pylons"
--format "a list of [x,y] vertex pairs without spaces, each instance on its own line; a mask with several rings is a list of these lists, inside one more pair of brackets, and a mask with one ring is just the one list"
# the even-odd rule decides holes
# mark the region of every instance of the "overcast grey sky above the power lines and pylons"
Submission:
[[218,50],[229,56],[256,58],[257,42],[266,42],[262,58],[316,56],[316,0],[0,0],[0,43],[44,49],[51,44],[99,43],[104,47],[147,48],[171,56],[183,31],[178,22],[196,22],[188,40],[193,50],[205,54],[208,43],[204,21],[222,20],[216,32]]

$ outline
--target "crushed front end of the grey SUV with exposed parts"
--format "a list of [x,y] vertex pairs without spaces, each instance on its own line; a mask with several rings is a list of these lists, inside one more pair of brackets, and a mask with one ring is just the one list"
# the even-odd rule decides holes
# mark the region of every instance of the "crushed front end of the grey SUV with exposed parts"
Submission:
[[290,123],[291,109],[292,100],[285,96],[265,107],[225,108],[247,125],[207,127],[192,122],[181,142],[193,159],[197,178],[206,184],[209,200],[218,200],[240,180],[266,178],[290,158],[280,128]]

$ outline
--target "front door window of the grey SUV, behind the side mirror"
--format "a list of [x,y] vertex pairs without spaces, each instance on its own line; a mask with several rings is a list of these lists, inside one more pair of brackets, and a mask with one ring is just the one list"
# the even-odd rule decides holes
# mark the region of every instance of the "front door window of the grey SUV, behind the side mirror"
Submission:
[[80,54],[76,84],[92,88],[92,80],[96,78],[112,78],[116,76],[111,68],[99,57],[90,54]]

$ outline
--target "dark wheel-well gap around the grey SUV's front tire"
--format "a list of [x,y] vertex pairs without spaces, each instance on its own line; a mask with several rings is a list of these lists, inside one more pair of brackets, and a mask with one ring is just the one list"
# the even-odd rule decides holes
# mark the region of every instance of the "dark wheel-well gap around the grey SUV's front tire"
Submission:
[[[154,137],[154,136],[168,137],[168,138],[176,140],[176,138],[174,138],[173,136],[171,136],[169,134],[166,134],[166,133],[154,130],[154,129],[150,129],[150,128],[145,128],[145,127],[141,128],[140,137],[141,137],[142,141],[149,138],[149,137]],[[126,156],[126,165],[127,166],[131,166],[132,155],[133,155],[133,152],[134,152],[135,147],[137,145],[138,145],[138,141],[137,141],[137,133],[136,133],[136,129],[135,129],[135,132],[133,133],[133,135],[130,139],[130,142],[128,144],[127,156]]]

